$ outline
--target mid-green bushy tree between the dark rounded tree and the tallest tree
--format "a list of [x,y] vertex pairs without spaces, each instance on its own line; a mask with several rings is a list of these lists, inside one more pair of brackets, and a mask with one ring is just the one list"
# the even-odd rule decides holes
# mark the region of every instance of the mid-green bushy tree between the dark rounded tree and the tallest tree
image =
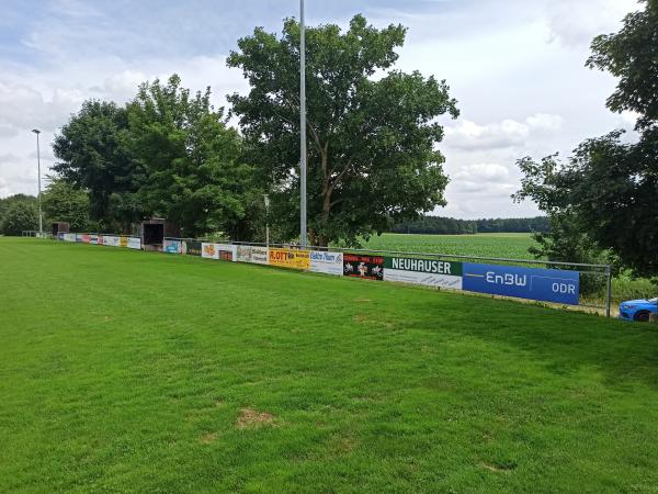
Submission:
[[129,155],[148,177],[137,194],[141,207],[185,236],[248,236],[241,222],[260,195],[240,160],[240,136],[211,105],[209,88],[191,96],[180,82],[174,75],[164,86],[144,83],[128,104]]

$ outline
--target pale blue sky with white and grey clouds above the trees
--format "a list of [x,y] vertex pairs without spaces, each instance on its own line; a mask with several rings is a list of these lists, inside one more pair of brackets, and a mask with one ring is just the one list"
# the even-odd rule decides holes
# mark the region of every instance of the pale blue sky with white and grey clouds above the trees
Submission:
[[[137,85],[179,74],[183,86],[209,86],[214,104],[248,91],[226,67],[237,40],[256,26],[281,32],[297,0],[3,0],[0,16],[0,198],[37,192],[54,164],[54,136],[82,101],[124,103]],[[540,214],[515,204],[515,161],[568,156],[580,142],[632,114],[605,99],[615,80],[585,67],[591,40],[615,32],[635,0],[306,0],[309,25],[347,26],[362,13],[374,25],[409,29],[396,68],[445,79],[461,116],[441,119],[439,149],[451,178],[447,206],[460,218]]]

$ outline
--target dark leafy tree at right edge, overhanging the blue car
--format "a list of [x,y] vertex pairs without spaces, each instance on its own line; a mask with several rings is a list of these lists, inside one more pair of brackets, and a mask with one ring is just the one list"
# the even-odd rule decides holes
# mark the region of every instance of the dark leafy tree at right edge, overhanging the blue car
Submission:
[[[637,274],[658,274],[658,1],[628,14],[616,34],[598,36],[588,66],[620,78],[608,106],[638,114],[635,142],[622,131],[588,139],[566,161],[523,158],[517,199],[548,213],[545,250],[568,245],[610,250]],[[569,233],[571,232],[571,233]],[[560,247],[561,244],[561,247]],[[559,254],[559,252],[558,252]]]

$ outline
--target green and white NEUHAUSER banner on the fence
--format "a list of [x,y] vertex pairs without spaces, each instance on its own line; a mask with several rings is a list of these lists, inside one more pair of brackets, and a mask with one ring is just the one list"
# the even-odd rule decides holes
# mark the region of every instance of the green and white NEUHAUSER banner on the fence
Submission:
[[462,262],[385,257],[384,280],[461,290]]

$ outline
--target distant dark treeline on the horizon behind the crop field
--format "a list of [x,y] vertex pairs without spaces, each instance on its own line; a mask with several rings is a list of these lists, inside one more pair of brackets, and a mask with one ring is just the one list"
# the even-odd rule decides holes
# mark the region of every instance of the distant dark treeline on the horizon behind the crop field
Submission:
[[477,233],[533,233],[547,232],[546,216],[509,217],[489,220],[456,220],[454,217],[424,216],[416,222],[404,222],[389,229],[390,233],[468,235]]

